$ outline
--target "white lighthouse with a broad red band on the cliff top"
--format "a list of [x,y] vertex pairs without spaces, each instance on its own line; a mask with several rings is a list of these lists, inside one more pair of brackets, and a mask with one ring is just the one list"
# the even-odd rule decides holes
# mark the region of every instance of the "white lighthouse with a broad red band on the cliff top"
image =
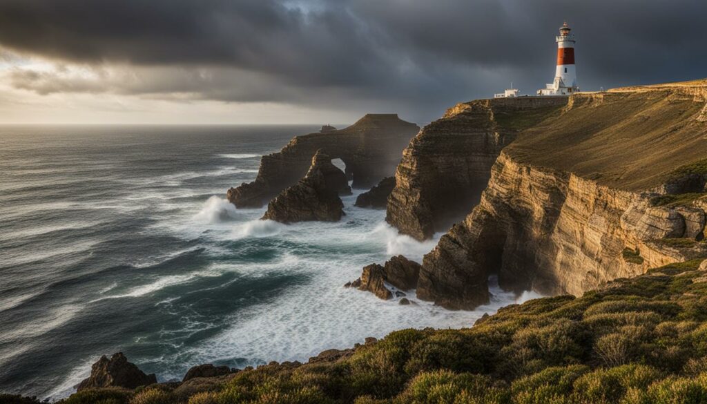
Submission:
[[551,84],[537,91],[539,96],[568,96],[579,91],[574,61],[575,38],[571,31],[569,25],[563,23],[560,35],[555,37],[557,42],[555,79]]

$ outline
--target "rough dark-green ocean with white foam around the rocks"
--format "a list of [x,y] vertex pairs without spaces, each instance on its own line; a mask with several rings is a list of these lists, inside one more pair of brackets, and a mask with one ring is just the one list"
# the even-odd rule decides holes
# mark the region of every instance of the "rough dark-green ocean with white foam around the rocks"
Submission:
[[[419,243],[343,197],[339,223],[235,209],[259,156],[311,126],[0,127],[0,392],[61,398],[101,355],[158,381],[196,364],[306,361],[402,328],[462,328],[534,297],[446,311],[345,289]],[[341,164],[340,161],[337,163]]]

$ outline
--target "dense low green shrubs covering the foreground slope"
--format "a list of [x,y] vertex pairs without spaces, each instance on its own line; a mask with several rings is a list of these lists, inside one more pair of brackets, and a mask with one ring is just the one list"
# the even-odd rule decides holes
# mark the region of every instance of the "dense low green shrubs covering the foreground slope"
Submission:
[[86,391],[64,403],[706,403],[698,265],[508,306],[473,328],[397,331],[337,362],[241,371],[191,397]]

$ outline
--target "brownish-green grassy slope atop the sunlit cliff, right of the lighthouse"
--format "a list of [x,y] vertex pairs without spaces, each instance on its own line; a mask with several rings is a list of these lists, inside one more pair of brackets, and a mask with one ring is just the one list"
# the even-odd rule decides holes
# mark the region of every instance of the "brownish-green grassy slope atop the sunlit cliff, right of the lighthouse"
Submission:
[[707,157],[707,79],[579,93],[506,148],[518,161],[646,190]]

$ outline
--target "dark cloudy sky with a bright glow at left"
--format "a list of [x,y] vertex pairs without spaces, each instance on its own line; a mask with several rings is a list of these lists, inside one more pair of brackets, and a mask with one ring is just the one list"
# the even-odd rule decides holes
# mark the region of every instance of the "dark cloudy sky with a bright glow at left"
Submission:
[[0,0],[0,124],[426,123],[554,76],[707,77],[706,0]]

